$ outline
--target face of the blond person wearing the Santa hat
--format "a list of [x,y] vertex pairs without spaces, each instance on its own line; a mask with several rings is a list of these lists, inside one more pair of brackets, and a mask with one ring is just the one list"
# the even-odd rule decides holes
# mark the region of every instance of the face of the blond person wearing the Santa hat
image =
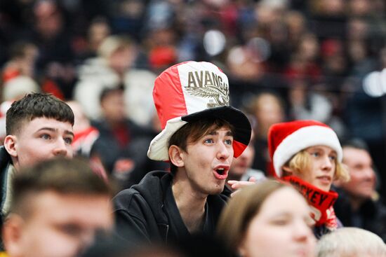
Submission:
[[328,146],[311,146],[305,151],[310,155],[310,168],[293,174],[321,190],[329,191],[335,176],[337,153]]

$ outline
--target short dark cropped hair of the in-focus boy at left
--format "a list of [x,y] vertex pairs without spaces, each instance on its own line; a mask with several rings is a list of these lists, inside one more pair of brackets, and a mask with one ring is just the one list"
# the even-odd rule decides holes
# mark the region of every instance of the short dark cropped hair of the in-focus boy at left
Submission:
[[51,94],[30,93],[13,102],[6,113],[6,134],[20,132],[25,121],[34,118],[54,118],[74,125],[74,113],[62,100]]

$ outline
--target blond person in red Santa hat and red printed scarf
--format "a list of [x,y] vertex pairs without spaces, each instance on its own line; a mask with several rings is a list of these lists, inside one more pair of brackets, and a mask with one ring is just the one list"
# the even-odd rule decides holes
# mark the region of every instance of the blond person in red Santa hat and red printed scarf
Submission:
[[269,128],[268,148],[273,175],[291,183],[309,202],[315,235],[338,228],[333,210],[338,193],[331,184],[350,176],[342,166],[342,147],[331,127],[316,120],[277,123]]

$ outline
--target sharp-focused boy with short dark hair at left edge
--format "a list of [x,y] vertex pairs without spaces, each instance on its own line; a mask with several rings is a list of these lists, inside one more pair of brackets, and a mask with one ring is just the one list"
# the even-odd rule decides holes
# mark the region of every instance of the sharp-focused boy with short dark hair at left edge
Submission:
[[0,148],[1,218],[11,203],[11,178],[23,167],[56,156],[72,158],[74,114],[52,95],[31,93],[6,113],[6,137]]

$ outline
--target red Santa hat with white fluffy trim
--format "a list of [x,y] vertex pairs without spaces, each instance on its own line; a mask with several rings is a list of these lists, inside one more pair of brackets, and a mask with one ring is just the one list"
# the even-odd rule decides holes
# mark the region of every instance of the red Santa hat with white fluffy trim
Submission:
[[342,161],[342,147],[338,136],[324,123],[316,120],[295,120],[269,127],[268,150],[275,175],[281,177],[281,167],[293,155],[310,146],[329,146]]

